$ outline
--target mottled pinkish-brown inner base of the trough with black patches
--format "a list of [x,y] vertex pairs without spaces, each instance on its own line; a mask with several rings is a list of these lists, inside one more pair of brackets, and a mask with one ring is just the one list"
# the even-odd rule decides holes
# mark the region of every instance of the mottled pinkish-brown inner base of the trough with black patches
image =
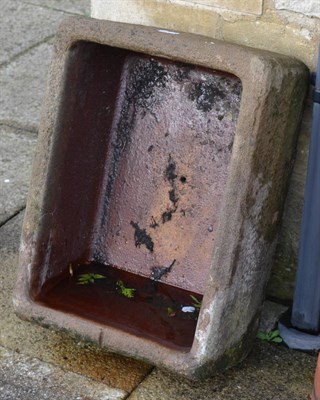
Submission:
[[125,57],[94,259],[204,292],[240,95],[234,76]]

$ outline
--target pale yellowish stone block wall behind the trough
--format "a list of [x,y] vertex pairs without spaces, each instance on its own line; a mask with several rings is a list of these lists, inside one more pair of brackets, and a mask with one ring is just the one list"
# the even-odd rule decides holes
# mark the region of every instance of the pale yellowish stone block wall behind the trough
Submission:
[[[316,68],[319,0],[91,0],[92,16],[198,33],[296,57]],[[311,128],[306,101],[268,294],[292,298]]]

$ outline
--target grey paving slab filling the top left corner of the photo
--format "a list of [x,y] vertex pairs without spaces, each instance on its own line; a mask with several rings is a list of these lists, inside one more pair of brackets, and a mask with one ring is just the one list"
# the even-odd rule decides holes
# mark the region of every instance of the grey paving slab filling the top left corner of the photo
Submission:
[[19,0],[1,0],[0,65],[52,36],[65,14]]

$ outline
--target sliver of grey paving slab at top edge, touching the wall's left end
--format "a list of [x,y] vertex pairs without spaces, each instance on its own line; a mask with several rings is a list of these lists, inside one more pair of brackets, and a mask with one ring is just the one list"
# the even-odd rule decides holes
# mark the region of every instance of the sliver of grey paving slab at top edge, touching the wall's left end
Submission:
[[73,14],[90,15],[90,0],[21,0],[53,10],[62,10]]

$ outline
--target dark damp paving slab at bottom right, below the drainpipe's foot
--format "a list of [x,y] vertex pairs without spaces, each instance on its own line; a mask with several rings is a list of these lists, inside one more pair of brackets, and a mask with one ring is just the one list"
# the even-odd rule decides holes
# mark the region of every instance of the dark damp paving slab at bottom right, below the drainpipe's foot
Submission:
[[201,383],[155,370],[128,400],[308,399],[316,357],[268,343],[255,343],[236,368]]

